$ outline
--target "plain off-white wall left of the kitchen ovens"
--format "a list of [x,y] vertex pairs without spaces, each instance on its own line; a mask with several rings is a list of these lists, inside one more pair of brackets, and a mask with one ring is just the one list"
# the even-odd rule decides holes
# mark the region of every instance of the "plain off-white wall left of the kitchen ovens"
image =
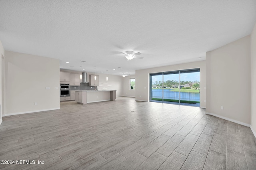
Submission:
[[4,116],[59,109],[59,83],[59,60],[5,51]]

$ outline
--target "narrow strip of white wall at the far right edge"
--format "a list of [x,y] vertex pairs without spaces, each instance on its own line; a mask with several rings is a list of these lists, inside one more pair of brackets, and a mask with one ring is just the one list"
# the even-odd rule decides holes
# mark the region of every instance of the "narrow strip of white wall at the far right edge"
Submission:
[[256,136],[256,24],[251,34],[251,128]]

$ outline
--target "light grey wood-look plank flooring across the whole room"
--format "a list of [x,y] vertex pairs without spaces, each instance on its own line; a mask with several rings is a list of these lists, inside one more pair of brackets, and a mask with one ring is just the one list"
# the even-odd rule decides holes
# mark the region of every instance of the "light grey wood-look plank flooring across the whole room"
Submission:
[[3,117],[0,160],[32,164],[0,169],[256,169],[250,128],[205,115],[205,109],[130,97],[87,105],[65,101],[60,108]]

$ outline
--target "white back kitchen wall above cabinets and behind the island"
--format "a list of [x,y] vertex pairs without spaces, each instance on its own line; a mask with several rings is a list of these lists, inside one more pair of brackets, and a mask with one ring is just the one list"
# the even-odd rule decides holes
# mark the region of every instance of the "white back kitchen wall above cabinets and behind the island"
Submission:
[[[81,71],[67,69],[60,69],[60,71],[81,74]],[[86,72],[86,70],[84,72]],[[122,76],[87,72],[87,81],[89,81],[90,74],[99,75],[99,86],[97,87],[98,90],[116,90],[116,96],[123,96],[124,81]],[[108,81],[106,81],[106,77],[108,77]]]

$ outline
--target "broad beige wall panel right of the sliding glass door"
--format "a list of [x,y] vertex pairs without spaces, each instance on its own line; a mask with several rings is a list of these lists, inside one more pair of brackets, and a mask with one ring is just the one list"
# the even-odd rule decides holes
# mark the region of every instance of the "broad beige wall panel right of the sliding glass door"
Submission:
[[206,112],[249,126],[250,36],[207,52],[206,68]]

